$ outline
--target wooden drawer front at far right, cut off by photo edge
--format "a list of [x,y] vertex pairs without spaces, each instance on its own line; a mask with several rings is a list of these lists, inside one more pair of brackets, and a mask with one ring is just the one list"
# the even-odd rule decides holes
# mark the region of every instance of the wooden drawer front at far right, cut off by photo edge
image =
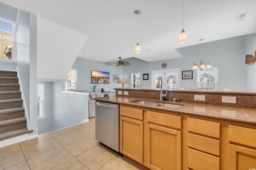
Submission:
[[229,125],[228,140],[256,148],[256,129]]

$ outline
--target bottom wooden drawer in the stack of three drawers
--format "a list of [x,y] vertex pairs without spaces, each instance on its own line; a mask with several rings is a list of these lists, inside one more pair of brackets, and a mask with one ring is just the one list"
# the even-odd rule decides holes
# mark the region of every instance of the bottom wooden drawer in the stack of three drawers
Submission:
[[188,168],[194,170],[219,170],[220,158],[188,148]]

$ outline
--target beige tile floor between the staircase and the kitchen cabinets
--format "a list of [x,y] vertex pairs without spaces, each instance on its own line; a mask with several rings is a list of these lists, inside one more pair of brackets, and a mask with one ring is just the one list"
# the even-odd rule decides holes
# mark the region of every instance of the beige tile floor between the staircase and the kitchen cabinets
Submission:
[[0,148],[0,170],[143,170],[98,144],[89,120]]

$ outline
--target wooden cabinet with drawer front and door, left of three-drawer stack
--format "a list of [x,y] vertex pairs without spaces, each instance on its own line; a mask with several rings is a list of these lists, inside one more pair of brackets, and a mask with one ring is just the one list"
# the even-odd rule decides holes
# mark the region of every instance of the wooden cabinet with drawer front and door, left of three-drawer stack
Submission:
[[[182,161],[181,117],[147,111],[148,168],[152,170],[180,170]],[[165,126],[165,127],[164,127]]]

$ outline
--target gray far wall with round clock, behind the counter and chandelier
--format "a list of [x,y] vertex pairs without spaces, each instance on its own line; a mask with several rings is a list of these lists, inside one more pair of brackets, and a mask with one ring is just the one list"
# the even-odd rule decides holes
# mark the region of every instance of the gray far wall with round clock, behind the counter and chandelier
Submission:
[[[164,70],[180,68],[182,71],[192,70],[194,62],[200,64],[201,44],[176,49],[183,57],[155,62],[145,62],[136,58],[126,59],[131,66],[123,68],[123,77],[130,88],[130,74],[140,72],[148,73],[149,80],[141,80],[141,88],[151,88],[151,70]],[[204,62],[210,61],[212,66],[218,66],[218,90],[223,88],[233,91],[245,90],[245,36],[223,39],[202,44],[202,58]],[[162,63],[167,67],[162,68]],[[186,85],[188,84],[188,85]],[[196,70],[193,70],[193,79],[182,80],[180,76],[180,88],[188,90],[196,87]]]

